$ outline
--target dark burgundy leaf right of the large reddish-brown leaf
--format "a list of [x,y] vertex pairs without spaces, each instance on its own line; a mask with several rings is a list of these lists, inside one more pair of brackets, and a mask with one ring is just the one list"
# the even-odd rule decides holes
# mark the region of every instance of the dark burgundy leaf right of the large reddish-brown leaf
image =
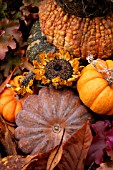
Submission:
[[95,124],[92,124],[91,127],[95,131],[96,135],[93,137],[93,141],[87,155],[87,166],[90,166],[93,162],[96,164],[103,162],[104,151],[108,148],[106,143],[106,131],[110,127],[110,123],[109,121],[97,121]]

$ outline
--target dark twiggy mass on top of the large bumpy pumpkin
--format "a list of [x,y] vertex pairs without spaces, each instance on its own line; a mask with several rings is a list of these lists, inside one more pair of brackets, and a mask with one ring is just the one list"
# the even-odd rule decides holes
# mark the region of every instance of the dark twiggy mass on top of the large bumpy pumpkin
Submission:
[[112,0],[55,0],[69,14],[80,17],[105,16],[113,11]]

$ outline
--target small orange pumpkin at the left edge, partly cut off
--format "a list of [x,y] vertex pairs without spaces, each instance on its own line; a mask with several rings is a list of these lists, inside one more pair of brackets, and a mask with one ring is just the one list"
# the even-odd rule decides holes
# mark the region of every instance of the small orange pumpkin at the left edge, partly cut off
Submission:
[[11,89],[5,89],[0,94],[0,114],[10,122],[15,121],[17,113],[22,110],[22,102],[25,99],[17,99],[15,91]]

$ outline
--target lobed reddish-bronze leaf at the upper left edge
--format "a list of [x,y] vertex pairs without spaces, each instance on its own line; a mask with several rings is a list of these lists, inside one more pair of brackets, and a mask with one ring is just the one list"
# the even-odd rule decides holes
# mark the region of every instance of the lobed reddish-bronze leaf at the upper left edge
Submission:
[[19,27],[19,21],[9,21],[6,18],[0,21],[0,29],[2,30],[0,35],[0,60],[5,58],[8,47],[15,49],[16,41],[21,43],[22,34],[18,30]]

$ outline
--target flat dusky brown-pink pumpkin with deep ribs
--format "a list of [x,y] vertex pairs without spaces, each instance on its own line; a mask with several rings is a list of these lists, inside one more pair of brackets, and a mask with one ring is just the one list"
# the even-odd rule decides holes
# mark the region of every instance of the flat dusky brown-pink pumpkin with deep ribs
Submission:
[[66,142],[88,119],[87,108],[70,89],[44,87],[30,95],[16,117],[15,137],[25,153],[39,154]]

